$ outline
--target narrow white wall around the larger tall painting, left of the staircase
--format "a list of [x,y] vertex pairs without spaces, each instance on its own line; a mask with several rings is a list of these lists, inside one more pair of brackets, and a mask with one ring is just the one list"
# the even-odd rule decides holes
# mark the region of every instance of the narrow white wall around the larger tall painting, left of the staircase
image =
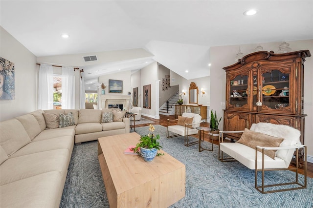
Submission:
[[158,80],[158,64],[153,62],[146,67],[141,69],[141,93],[139,98],[141,104],[143,104],[143,86],[151,84],[151,109],[142,108],[141,114],[151,118],[159,119],[158,115],[158,91],[159,91],[159,80]]

